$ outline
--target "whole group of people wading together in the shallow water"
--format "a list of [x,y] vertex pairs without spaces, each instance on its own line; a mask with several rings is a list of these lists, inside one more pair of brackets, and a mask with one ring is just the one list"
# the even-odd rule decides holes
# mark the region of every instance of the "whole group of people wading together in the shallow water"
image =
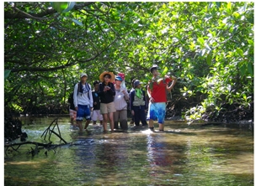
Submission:
[[[157,65],[152,65],[150,68],[152,79],[148,82],[147,92],[142,90],[140,80],[133,80],[133,88],[129,93],[125,87],[123,73],[114,75],[112,72],[103,72],[99,75],[100,81],[93,82],[93,90],[87,82],[88,75],[82,73],[80,82],[74,86],[68,99],[72,126],[79,127],[79,132],[83,130],[88,132],[90,121],[96,125],[96,121],[99,120],[100,125],[104,127],[104,132],[108,132],[108,122],[111,132],[119,128],[128,130],[127,107],[129,103],[135,127],[140,127],[141,122],[142,127],[148,126],[154,132],[154,121],[157,120],[159,132],[163,131],[166,93],[173,89],[177,78],[168,75],[161,76],[158,70]],[[86,120],[85,127],[83,127],[83,119]]]

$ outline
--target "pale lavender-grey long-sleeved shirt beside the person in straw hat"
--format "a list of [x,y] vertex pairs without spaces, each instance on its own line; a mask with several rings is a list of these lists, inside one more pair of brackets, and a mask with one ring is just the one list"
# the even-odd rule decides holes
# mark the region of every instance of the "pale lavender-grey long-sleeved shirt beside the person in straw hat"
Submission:
[[[125,94],[122,92],[125,90]],[[120,90],[115,89],[114,104],[116,111],[127,110],[127,102],[129,100],[128,91],[125,88],[120,88]]]

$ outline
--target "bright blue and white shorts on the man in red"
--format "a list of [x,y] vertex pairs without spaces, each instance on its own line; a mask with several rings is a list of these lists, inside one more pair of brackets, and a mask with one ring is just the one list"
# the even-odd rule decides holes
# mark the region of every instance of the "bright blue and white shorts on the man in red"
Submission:
[[147,121],[158,120],[159,124],[163,124],[164,118],[165,118],[165,111],[166,111],[165,102],[159,102],[159,103],[150,102],[148,105]]

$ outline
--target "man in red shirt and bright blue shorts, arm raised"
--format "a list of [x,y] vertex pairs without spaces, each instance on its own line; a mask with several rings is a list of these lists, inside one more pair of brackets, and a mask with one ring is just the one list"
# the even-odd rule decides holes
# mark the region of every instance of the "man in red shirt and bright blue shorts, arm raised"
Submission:
[[[159,131],[163,131],[164,129],[164,118],[166,112],[166,102],[167,96],[166,91],[173,88],[173,85],[176,83],[177,78],[170,78],[168,75],[164,75],[161,77],[158,73],[159,67],[157,65],[153,65],[150,68],[150,72],[153,77],[152,80],[149,81],[149,85],[147,85],[147,95],[149,96],[149,105],[147,112],[147,121],[148,127],[151,131],[154,131],[154,120],[158,120]],[[168,86],[169,82],[172,82],[170,86]]]

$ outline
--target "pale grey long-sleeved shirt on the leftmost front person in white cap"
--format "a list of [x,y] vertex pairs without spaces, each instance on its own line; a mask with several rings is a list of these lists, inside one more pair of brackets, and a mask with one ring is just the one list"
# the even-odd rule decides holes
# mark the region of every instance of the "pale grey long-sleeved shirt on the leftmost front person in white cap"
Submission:
[[92,95],[92,89],[91,85],[88,85],[90,87],[90,90],[85,89],[85,85],[83,85],[83,92],[78,92],[78,84],[75,85],[74,88],[74,105],[77,107],[78,105],[82,106],[90,106],[93,107],[93,95]]

